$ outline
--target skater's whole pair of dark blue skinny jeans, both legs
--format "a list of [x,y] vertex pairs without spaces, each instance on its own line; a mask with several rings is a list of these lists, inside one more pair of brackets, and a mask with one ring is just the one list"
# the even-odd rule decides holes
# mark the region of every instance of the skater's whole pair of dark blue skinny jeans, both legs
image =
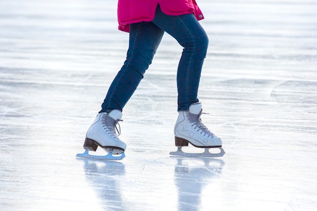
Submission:
[[177,110],[188,110],[199,102],[197,92],[208,36],[193,14],[168,16],[158,6],[153,21],[130,24],[127,59],[112,81],[100,112],[123,110],[151,64],[165,31],[184,47],[177,69]]

